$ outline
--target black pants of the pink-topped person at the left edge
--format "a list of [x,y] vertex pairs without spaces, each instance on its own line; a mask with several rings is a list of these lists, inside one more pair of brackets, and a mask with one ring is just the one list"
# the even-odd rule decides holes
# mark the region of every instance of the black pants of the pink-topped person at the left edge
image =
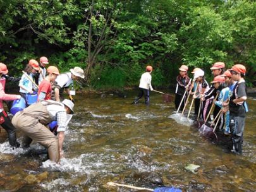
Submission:
[[11,147],[20,147],[20,143],[16,141],[15,127],[11,123],[8,114],[5,111],[0,112],[0,125],[6,130]]

